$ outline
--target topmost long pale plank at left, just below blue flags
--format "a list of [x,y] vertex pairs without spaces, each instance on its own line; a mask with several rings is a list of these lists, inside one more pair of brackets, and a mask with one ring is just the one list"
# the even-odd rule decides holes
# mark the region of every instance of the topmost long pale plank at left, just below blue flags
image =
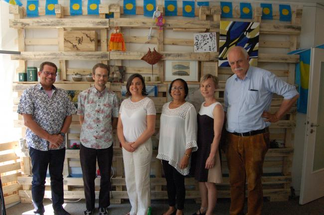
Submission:
[[[133,19],[134,20],[134,19]],[[11,28],[48,28],[48,27],[64,27],[64,28],[108,28],[108,19],[96,18],[25,18],[25,19],[9,19],[9,27]]]

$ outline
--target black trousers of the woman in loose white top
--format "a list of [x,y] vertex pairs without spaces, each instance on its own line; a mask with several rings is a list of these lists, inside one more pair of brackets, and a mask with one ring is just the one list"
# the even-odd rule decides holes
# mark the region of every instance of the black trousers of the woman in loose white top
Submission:
[[185,199],[184,176],[181,175],[174,167],[168,164],[168,161],[162,160],[164,176],[166,180],[167,199],[170,207],[183,210]]

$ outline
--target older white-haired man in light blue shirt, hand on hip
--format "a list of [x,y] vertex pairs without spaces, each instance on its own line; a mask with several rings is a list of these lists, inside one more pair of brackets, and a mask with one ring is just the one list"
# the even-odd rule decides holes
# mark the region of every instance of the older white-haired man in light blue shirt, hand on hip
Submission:
[[[229,132],[226,157],[231,185],[230,215],[243,214],[245,178],[248,214],[261,215],[261,176],[269,144],[268,126],[288,112],[299,94],[294,86],[271,72],[250,66],[248,53],[242,47],[233,47],[227,59],[234,72],[226,82],[224,93]],[[273,93],[283,96],[284,100],[275,113],[270,113]]]

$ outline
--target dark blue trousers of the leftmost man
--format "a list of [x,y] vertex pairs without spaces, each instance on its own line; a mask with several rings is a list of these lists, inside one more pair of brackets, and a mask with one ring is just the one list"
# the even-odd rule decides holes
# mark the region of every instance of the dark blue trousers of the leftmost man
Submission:
[[45,212],[43,199],[45,194],[45,179],[47,167],[51,179],[51,193],[54,211],[62,207],[64,203],[63,193],[63,165],[65,148],[58,150],[40,151],[29,147],[29,155],[32,164],[31,195],[35,212]]

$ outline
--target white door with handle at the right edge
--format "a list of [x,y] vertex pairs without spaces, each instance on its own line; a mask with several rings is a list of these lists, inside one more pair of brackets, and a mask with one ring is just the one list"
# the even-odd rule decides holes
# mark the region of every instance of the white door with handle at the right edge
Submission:
[[324,49],[312,48],[299,204],[324,196]]

